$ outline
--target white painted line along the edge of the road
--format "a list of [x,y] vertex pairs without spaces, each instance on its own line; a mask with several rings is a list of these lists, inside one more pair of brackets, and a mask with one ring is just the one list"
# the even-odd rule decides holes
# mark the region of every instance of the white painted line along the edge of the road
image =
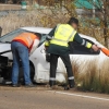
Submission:
[[[48,90],[48,92],[55,92],[55,90]],[[107,98],[99,98],[99,97],[94,97],[94,96],[85,96],[85,95],[78,95],[78,94],[71,94],[71,93],[63,93],[63,92],[55,92],[57,94],[61,94],[61,95],[69,95],[69,96],[75,96],[75,97],[82,97],[82,98],[88,98],[88,99],[96,99],[96,100],[105,100],[105,101],[109,101],[109,99]]]

